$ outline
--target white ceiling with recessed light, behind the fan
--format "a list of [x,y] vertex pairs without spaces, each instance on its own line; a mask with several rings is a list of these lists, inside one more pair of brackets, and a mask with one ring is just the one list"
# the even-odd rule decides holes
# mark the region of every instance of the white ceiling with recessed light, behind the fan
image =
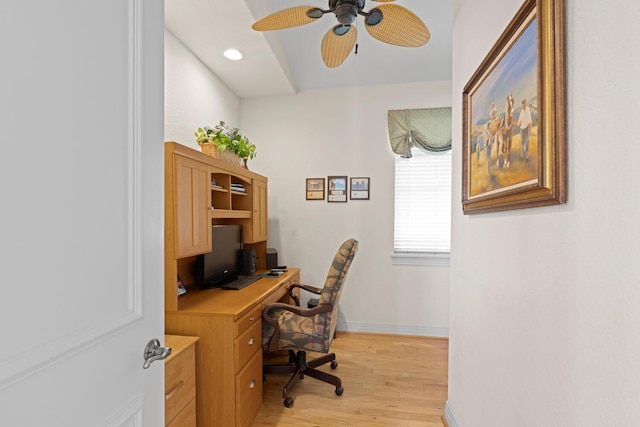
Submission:
[[[165,0],[165,26],[240,98],[301,90],[451,80],[452,0],[397,0],[418,15],[431,39],[418,48],[392,46],[367,33],[358,17],[358,53],[337,68],[320,55],[333,14],[301,27],[257,32],[259,18],[289,7],[327,8],[327,0]],[[368,1],[365,11],[380,3]],[[233,47],[244,54],[230,61]]]

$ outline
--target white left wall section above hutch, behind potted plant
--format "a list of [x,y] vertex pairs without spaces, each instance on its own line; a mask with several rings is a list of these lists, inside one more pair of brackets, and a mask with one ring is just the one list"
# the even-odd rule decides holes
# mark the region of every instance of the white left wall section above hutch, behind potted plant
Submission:
[[240,100],[216,75],[165,29],[165,141],[199,150],[197,128],[220,120],[239,126]]

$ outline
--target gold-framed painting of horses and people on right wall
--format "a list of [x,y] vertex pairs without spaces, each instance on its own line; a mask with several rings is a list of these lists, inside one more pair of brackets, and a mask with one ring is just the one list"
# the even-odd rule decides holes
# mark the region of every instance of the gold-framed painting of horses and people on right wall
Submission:
[[526,0],[464,87],[465,214],[566,201],[564,1]]

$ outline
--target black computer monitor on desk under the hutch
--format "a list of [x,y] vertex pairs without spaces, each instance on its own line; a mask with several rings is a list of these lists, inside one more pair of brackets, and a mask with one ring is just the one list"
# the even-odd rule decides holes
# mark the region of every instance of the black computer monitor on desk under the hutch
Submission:
[[204,288],[217,288],[237,279],[242,268],[242,226],[214,225],[211,246],[211,252],[196,258],[196,284]]

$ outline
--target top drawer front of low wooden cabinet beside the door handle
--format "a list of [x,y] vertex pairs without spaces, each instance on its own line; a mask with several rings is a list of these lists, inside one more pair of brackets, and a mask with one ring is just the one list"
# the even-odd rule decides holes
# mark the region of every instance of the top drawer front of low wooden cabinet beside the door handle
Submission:
[[165,365],[165,417],[172,420],[196,395],[195,346],[191,345]]

